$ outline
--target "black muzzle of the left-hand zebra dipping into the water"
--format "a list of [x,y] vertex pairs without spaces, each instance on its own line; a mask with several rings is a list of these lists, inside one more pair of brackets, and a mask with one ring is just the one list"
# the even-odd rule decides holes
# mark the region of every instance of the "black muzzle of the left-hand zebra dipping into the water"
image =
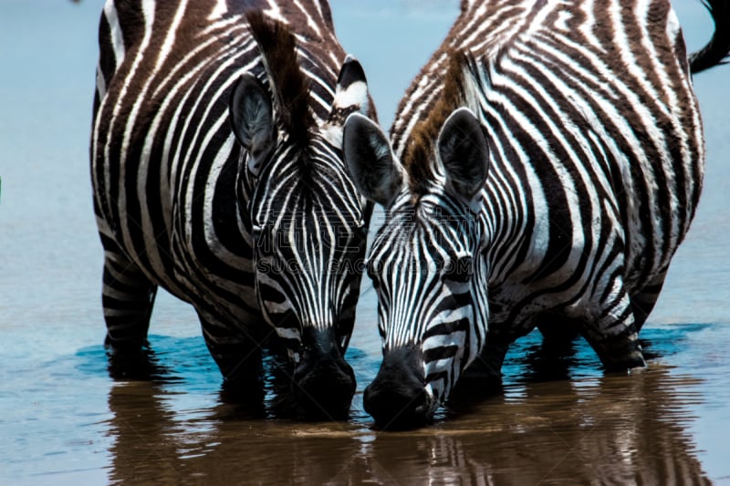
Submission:
[[292,376],[297,419],[346,419],[355,373],[342,356],[333,328],[306,328]]

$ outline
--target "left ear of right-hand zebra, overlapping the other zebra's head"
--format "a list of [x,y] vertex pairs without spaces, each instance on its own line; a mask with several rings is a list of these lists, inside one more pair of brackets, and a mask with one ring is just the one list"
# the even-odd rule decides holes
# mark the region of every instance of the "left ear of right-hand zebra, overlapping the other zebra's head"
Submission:
[[352,113],[345,121],[342,139],[345,163],[360,193],[390,206],[401,191],[403,171],[388,136],[369,118]]

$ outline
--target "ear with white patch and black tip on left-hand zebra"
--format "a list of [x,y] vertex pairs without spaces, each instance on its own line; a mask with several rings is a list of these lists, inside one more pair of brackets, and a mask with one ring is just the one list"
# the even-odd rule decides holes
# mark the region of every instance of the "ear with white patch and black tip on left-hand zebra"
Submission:
[[351,113],[369,115],[370,98],[365,71],[355,57],[345,58],[337,78],[335,100],[323,126],[324,137],[335,147],[342,147],[342,127]]

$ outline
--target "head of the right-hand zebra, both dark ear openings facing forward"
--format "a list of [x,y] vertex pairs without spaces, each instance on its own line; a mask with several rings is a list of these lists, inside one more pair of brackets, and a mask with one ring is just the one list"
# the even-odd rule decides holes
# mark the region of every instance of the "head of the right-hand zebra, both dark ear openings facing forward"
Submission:
[[434,131],[424,160],[401,165],[369,119],[351,115],[345,125],[349,170],[386,210],[368,257],[383,360],[364,397],[384,427],[431,419],[485,341],[485,134],[465,108]]

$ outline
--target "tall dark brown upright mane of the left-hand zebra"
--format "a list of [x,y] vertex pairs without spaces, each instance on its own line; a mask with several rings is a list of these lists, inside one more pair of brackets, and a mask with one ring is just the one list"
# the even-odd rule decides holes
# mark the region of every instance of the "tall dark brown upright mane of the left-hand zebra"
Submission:
[[315,121],[309,111],[309,79],[299,67],[297,39],[288,26],[268,21],[260,10],[245,15],[269,78],[275,106],[295,146],[306,147]]

